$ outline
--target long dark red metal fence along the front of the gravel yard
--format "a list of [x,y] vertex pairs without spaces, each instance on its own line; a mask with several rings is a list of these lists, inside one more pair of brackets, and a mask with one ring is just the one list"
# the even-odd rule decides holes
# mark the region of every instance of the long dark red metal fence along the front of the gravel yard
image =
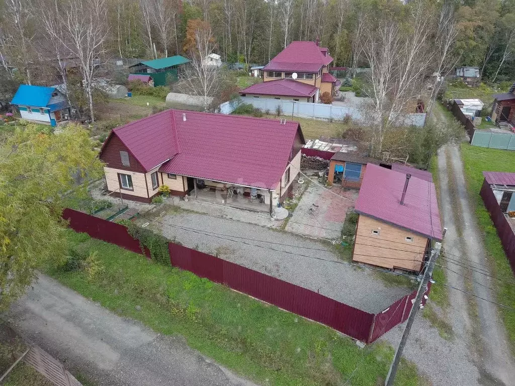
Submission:
[[[136,253],[142,253],[138,240],[125,226],[73,209],[65,209],[63,218],[70,220],[76,232],[88,233]],[[325,324],[357,340],[371,343],[407,319],[415,292],[404,296],[383,312],[372,314],[340,303],[317,292],[284,282],[276,277],[239,266],[173,242],[168,243],[170,262],[178,267],[227,285],[284,310]],[[148,251],[146,251],[147,256]]]

